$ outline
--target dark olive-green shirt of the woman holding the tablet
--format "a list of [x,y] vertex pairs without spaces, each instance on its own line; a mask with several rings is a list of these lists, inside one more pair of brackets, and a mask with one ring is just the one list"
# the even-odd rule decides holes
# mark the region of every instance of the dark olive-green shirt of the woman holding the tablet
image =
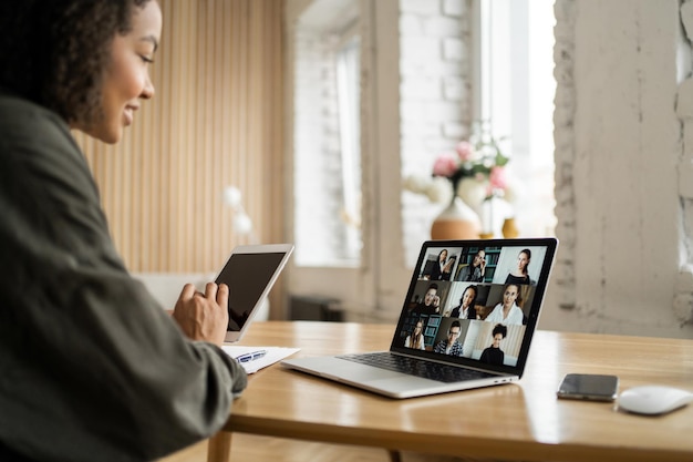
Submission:
[[66,123],[0,93],[0,459],[159,458],[246,384],[127,273]]

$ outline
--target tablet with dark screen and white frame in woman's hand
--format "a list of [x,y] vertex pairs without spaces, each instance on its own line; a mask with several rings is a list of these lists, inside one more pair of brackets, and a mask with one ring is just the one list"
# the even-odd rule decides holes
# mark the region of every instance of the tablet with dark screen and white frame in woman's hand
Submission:
[[225,341],[238,341],[244,336],[291,251],[292,244],[260,244],[234,248],[215,279],[215,283],[229,287],[229,321]]

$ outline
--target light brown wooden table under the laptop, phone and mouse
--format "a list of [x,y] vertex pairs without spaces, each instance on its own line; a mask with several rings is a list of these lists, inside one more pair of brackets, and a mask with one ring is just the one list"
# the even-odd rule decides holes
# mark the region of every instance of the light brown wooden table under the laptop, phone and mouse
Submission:
[[[300,347],[300,356],[387,349],[393,327],[256,322],[242,343]],[[568,372],[616,373],[621,390],[693,390],[693,340],[537,331],[518,383],[392,400],[280,365],[250,376],[209,461],[227,461],[231,432],[468,458],[524,461],[692,461],[693,405],[641,417],[613,403],[557,400]]]

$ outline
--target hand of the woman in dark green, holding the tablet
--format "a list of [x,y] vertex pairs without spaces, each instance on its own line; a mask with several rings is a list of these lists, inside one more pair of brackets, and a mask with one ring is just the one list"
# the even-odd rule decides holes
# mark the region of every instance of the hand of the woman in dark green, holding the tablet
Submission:
[[176,301],[173,318],[189,339],[221,345],[228,327],[228,294],[226,284],[208,283],[205,294],[186,284]]

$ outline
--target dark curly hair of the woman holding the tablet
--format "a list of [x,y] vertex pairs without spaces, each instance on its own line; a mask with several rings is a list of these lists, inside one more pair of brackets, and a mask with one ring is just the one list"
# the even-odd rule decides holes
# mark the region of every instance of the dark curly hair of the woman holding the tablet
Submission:
[[148,1],[0,1],[0,89],[90,125],[102,116],[110,45]]

